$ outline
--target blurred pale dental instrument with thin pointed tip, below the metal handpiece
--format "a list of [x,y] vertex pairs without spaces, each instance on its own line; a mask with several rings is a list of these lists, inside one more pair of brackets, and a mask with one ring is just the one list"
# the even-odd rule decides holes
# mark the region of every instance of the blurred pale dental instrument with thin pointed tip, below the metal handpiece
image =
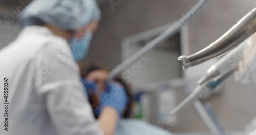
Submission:
[[244,47],[246,42],[241,46],[230,51],[223,56],[216,64],[212,65],[206,74],[198,81],[198,86],[194,91],[183,100],[176,108],[170,111],[169,115],[176,114],[181,108],[193,102],[195,99],[203,97],[204,94],[212,92],[226,78],[237,70],[238,62],[243,58]]

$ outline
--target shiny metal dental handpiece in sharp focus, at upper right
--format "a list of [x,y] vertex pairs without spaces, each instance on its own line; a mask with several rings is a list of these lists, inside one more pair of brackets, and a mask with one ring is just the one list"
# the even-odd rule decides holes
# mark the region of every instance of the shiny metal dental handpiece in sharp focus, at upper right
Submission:
[[256,8],[252,9],[236,25],[208,47],[188,57],[180,56],[178,58],[180,67],[184,70],[191,66],[216,59],[239,46],[239,44],[256,32],[255,12]]

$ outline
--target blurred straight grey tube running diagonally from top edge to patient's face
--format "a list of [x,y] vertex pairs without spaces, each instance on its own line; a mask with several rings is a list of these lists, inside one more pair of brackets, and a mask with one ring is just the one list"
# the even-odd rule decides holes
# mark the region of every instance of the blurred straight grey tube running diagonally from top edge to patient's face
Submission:
[[138,60],[146,52],[155,48],[160,43],[162,43],[163,41],[167,40],[169,37],[172,37],[177,32],[179,32],[182,26],[187,24],[191,19],[193,19],[209,1],[210,0],[200,0],[180,20],[176,21],[172,26],[170,26],[162,34],[154,38],[151,42],[147,43],[142,49],[140,49],[137,53],[135,53],[129,59],[125,60],[124,62],[116,66],[116,68],[110,71],[108,81],[111,81],[117,74],[119,74],[122,70],[126,69],[129,65],[131,65],[133,62]]

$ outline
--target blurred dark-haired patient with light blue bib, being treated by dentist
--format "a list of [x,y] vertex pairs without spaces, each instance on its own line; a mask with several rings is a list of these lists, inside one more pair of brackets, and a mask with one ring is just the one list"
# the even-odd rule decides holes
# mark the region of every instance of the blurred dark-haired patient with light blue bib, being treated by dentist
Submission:
[[[106,87],[106,79],[109,76],[108,68],[97,64],[97,63],[90,63],[90,64],[79,64],[81,69],[81,76],[88,81],[95,82],[97,84],[98,92],[92,93],[89,96],[89,102],[92,105],[94,110],[95,118],[97,118],[95,109],[99,106],[99,94],[100,92],[104,91]],[[145,123],[141,120],[136,120],[131,118],[132,113],[132,104],[133,104],[133,96],[131,92],[131,87],[120,77],[116,77],[113,81],[119,82],[123,85],[126,90],[127,95],[129,96],[129,104],[127,105],[122,119],[119,120],[116,135],[123,134],[123,135],[155,135],[155,134],[171,134],[169,132],[161,132],[162,129],[156,127],[154,125]]]

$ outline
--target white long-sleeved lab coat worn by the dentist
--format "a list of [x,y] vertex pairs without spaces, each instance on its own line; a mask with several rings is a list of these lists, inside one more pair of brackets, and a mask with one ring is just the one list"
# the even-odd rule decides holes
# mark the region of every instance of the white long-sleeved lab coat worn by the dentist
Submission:
[[[29,26],[0,50],[0,134],[103,134],[80,82],[67,41]],[[4,78],[8,117],[4,117]],[[8,119],[8,131],[4,130]]]

